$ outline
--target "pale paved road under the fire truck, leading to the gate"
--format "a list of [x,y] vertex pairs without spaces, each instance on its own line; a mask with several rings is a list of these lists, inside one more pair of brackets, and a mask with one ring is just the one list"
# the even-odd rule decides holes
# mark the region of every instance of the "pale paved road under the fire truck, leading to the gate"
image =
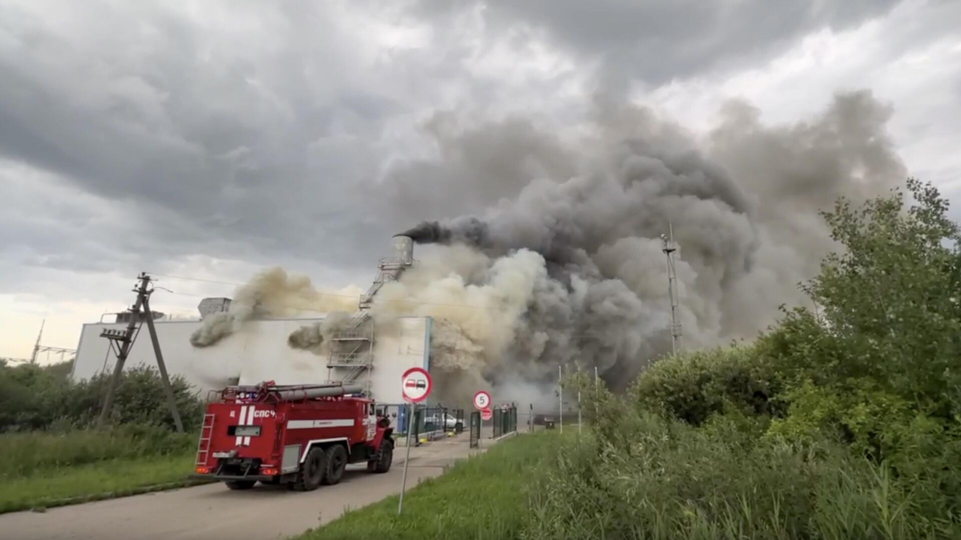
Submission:
[[[484,441],[487,442],[487,441]],[[410,449],[407,487],[440,475],[457,458],[475,454],[466,432]],[[488,442],[481,448],[489,448]],[[0,515],[0,539],[10,540],[213,540],[286,538],[323,525],[345,510],[400,492],[406,448],[394,453],[390,472],[367,473],[351,465],[337,485],[298,493],[260,486],[231,491],[214,483],[51,508],[44,513]]]

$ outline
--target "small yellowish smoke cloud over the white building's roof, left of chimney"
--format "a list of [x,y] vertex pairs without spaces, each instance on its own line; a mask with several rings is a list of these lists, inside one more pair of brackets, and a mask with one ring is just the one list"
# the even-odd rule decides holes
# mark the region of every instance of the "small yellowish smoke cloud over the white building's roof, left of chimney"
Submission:
[[[290,276],[283,268],[270,268],[237,287],[230,310],[204,319],[201,328],[190,335],[190,343],[194,347],[209,347],[234,331],[240,331],[243,324],[252,319],[354,310],[359,296],[360,289],[352,287],[337,293],[321,293],[307,276]],[[304,348],[310,349],[320,345],[322,335],[305,334],[291,336],[291,339],[296,343],[303,342]],[[311,344],[311,340],[316,343]]]

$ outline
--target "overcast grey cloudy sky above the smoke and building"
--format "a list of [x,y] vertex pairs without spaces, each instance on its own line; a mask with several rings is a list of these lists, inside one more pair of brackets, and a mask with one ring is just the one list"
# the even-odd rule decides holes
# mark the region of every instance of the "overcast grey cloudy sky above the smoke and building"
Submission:
[[[551,137],[599,91],[700,134],[858,88],[961,201],[954,0],[0,0],[0,356],[44,318],[76,347],[141,270],[366,286],[391,234],[567,170]],[[233,288],[161,280],[174,313]]]

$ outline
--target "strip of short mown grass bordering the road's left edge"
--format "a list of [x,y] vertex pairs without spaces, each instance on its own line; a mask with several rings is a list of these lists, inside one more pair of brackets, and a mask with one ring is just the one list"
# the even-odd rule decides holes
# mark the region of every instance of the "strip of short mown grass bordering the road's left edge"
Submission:
[[194,454],[153,455],[50,468],[0,482],[0,513],[86,503],[193,483]]

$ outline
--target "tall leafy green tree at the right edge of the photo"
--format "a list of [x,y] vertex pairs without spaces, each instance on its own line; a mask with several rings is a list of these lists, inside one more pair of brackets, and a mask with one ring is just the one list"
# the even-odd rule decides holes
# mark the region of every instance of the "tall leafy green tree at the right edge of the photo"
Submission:
[[961,252],[948,202],[930,184],[823,212],[844,250],[804,288],[822,307],[787,313],[766,336],[767,355],[791,390],[773,431],[836,430],[885,457],[931,422],[961,413]]

